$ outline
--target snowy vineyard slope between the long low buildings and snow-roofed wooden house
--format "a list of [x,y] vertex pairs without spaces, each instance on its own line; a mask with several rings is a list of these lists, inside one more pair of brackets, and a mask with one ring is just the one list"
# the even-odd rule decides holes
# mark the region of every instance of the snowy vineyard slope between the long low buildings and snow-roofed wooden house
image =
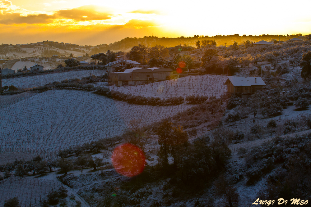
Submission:
[[182,96],[185,98],[191,95],[220,97],[227,91],[227,86],[224,85],[227,77],[223,75],[186,76],[145,85],[110,86],[110,90],[144,97],[169,98]]

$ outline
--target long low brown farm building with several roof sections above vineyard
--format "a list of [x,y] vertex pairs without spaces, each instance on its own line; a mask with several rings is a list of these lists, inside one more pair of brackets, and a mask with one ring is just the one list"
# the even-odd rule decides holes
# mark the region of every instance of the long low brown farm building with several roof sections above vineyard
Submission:
[[172,79],[173,76],[173,70],[170,68],[131,68],[124,72],[110,73],[110,81],[117,86],[139,85]]

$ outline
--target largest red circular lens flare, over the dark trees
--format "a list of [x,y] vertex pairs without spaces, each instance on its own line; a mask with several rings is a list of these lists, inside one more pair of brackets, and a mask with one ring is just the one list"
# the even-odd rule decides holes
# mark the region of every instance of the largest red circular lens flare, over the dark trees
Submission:
[[124,176],[133,177],[144,171],[146,159],[144,152],[132,144],[123,144],[114,149],[111,156],[114,169]]

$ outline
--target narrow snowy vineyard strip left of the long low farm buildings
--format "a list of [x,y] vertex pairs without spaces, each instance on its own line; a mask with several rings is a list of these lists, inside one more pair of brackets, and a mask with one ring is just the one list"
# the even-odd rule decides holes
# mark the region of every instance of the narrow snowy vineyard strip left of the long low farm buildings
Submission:
[[67,71],[62,73],[52,73],[52,74],[42,74],[42,75],[32,75],[24,77],[15,77],[2,79],[2,86],[14,85],[19,89],[34,88],[39,86],[44,86],[48,83],[53,83],[54,81],[62,81],[65,79],[73,79],[90,76],[90,75],[104,75],[106,72],[104,70],[76,70]]

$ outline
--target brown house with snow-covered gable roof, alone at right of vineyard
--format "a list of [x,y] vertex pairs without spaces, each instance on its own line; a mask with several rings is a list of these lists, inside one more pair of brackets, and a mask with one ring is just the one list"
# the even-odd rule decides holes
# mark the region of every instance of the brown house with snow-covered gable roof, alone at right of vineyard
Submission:
[[266,83],[261,77],[228,77],[225,85],[228,86],[228,93],[235,95],[250,95],[262,90]]

